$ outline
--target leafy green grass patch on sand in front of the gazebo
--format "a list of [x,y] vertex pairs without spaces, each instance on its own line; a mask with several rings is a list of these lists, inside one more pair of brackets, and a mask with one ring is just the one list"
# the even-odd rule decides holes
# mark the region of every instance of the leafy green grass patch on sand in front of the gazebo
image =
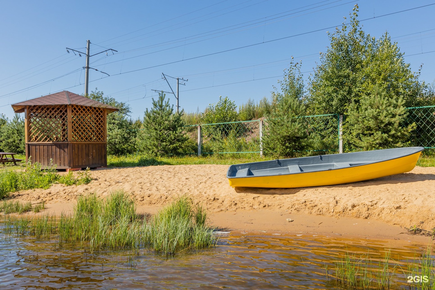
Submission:
[[8,168],[0,171],[0,199],[6,198],[11,192],[33,188],[49,188],[54,182],[72,184],[87,184],[92,180],[90,170],[80,171],[79,176],[74,177],[73,173],[61,176],[55,167],[42,169],[40,163],[27,163],[25,170],[10,170]]

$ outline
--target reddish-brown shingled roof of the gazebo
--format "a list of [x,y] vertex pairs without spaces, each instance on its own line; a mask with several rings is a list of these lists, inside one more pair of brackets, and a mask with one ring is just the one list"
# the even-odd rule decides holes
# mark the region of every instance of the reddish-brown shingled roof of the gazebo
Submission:
[[66,90],[59,93],[52,93],[47,96],[26,100],[20,103],[15,103],[12,106],[15,113],[23,113],[25,106],[52,106],[52,105],[80,105],[87,107],[106,108],[110,112],[117,111],[118,109],[104,103],[91,100],[87,97],[71,93]]

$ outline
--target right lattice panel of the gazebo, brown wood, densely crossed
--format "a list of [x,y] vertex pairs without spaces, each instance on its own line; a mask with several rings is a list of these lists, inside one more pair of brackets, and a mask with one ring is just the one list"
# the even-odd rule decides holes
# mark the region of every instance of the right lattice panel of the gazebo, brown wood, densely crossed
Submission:
[[106,142],[104,109],[72,106],[72,139],[75,142]]

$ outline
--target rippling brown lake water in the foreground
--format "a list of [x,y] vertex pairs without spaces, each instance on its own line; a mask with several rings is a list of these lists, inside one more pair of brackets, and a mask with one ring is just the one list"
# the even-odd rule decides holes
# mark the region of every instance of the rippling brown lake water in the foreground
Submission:
[[[381,259],[390,248],[391,258],[403,264],[424,250],[381,240],[233,234],[213,250],[169,259],[144,250],[93,256],[0,236],[0,289],[338,289],[325,264],[331,269],[346,251]],[[393,288],[405,289],[404,275],[394,281]]]

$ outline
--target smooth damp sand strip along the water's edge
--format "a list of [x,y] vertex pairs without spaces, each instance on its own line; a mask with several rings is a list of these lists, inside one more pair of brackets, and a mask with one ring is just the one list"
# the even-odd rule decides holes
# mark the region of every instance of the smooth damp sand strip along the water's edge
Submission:
[[[43,214],[72,213],[75,203],[48,203],[40,213],[24,213],[27,216]],[[137,207],[138,214],[154,214],[161,207]],[[14,215],[15,213],[11,213]],[[19,216],[18,213],[15,215]],[[276,212],[274,210],[221,211],[208,212],[209,223],[218,231],[230,232],[228,235],[262,235],[308,239],[349,238],[365,240],[382,240],[388,244],[414,244],[427,246],[432,237],[409,234],[408,230],[398,225],[391,225],[379,220],[349,217],[328,217],[304,213]],[[287,219],[293,221],[288,222]]]

